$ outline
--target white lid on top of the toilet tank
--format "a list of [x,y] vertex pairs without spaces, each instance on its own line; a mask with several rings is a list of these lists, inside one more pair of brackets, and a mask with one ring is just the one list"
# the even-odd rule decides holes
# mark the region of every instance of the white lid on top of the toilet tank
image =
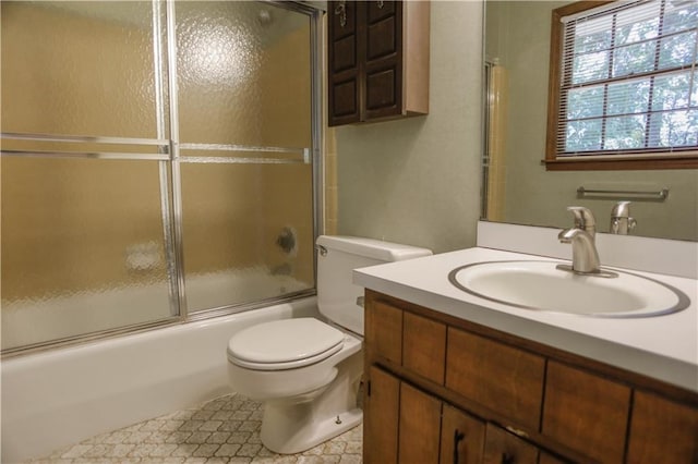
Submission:
[[420,256],[430,256],[432,254],[429,248],[359,236],[321,235],[317,237],[316,243],[328,249],[351,253],[386,262],[419,258]]

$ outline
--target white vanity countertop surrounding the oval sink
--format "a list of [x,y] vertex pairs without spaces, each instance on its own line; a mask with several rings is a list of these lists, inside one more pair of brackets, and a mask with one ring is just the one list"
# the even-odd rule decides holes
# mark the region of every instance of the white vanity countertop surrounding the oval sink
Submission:
[[470,295],[448,281],[448,272],[457,267],[512,259],[551,260],[476,247],[356,269],[353,282],[698,392],[698,280],[634,270],[636,274],[675,286],[688,295],[691,303],[688,308],[670,315],[624,319],[519,309]]

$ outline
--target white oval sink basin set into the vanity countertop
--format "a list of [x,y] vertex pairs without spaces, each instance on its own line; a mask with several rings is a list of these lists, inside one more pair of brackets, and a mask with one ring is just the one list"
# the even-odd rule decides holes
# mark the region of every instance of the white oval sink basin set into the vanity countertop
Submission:
[[[509,306],[594,317],[647,317],[685,309],[690,300],[654,279],[614,270],[605,277],[558,268],[556,261],[485,261],[448,274],[458,289]],[[611,274],[611,277],[609,277]]]

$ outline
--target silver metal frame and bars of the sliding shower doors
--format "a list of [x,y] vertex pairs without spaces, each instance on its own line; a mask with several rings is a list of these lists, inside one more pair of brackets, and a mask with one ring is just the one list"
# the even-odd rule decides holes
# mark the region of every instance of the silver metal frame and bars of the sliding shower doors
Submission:
[[[99,158],[99,159],[129,159],[149,160],[158,162],[159,188],[161,203],[161,222],[165,243],[165,254],[167,261],[167,274],[169,280],[169,307],[170,316],[147,322],[136,322],[133,325],[120,326],[103,331],[82,333],[73,337],[49,340],[41,343],[11,347],[2,352],[4,356],[36,352],[40,350],[53,349],[68,344],[75,344],[93,341],[105,337],[116,337],[137,331],[152,330],[170,325],[193,321],[203,318],[217,317],[220,315],[233,314],[266,306],[270,301],[255,302],[242,305],[227,305],[210,308],[195,314],[190,314],[186,306],[186,291],[183,268],[183,231],[182,231],[182,183],[181,164],[191,162],[202,162],[197,157],[182,155],[182,150],[226,150],[226,151],[256,151],[264,154],[265,158],[248,157],[206,157],[206,162],[225,163],[310,163],[312,166],[312,202],[313,202],[313,239],[323,231],[323,131],[322,131],[322,73],[323,53],[321,40],[321,19],[323,12],[314,7],[296,2],[273,1],[268,2],[279,8],[298,11],[309,16],[310,20],[310,59],[311,59],[311,147],[288,148],[288,147],[263,147],[243,145],[221,145],[221,144],[181,144],[179,137],[179,114],[178,114],[178,82],[177,82],[177,40],[176,40],[176,2],[174,1],[152,1],[153,5],[153,53],[155,69],[155,102],[156,102],[156,127],[157,138],[127,138],[127,137],[101,137],[101,136],[62,136],[41,134],[13,134],[3,133],[2,139],[21,141],[50,141],[59,143],[89,143],[89,144],[113,144],[113,145],[139,145],[152,146],[157,152],[118,152],[104,151],[32,151],[32,150],[7,150],[2,148],[2,156],[20,157],[72,157],[72,158]],[[169,130],[169,138],[167,132]],[[284,155],[274,157],[275,154]],[[269,156],[270,155],[270,156]],[[289,159],[289,156],[293,158]],[[315,256],[313,253],[313,261]],[[313,278],[316,282],[316,267],[313,266]],[[302,296],[315,294],[315,288],[288,294],[274,302],[284,302]]]

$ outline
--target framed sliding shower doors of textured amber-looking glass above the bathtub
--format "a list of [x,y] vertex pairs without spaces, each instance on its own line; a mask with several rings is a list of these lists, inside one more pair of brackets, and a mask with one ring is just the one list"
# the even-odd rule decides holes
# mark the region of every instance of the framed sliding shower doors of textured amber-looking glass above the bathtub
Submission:
[[317,10],[1,9],[3,354],[314,292]]

